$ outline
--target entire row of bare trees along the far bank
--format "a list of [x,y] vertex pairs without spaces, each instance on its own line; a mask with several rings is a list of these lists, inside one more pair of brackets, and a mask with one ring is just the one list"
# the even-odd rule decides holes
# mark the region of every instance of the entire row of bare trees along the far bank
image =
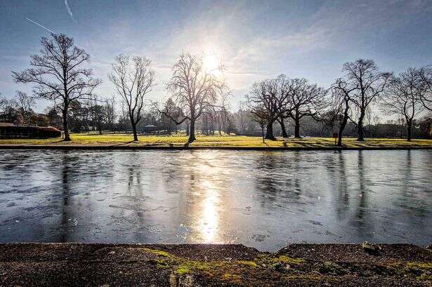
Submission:
[[[64,34],[41,39],[30,68],[13,72],[17,83],[33,86],[31,96],[17,91],[0,97],[0,122],[54,126],[70,140],[70,131],[98,133],[186,133],[188,143],[202,135],[329,136],[431,138],[432,67],[409,68],[399,75],[379,71],[373,60],[346,62],[341,77],[328,87],[280,74],[256,81],[237,111],[223,65],[206,67],[202,55],[181,53],[166,83],[161,104],[149,100],[155,70],[145,56],[118,55],[107,75],[111,97],[97,95],[102,82],[89,69],[90,55]],[[217,70],[217,71],[216,71]],[[51,100],[44,113],[35,100]],[[389,116],[382,121],[377,111]]]

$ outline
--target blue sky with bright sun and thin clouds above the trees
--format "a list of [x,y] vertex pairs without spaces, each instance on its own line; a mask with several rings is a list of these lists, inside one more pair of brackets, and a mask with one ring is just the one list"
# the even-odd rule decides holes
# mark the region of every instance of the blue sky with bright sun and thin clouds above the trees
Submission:
[[[107,74],[116,55],[152,60],[157,86],[150,100],[168,97],[166,81],[184,52],[211,52],[225,65],[233,107],[254,81],[278,74],[329,86],[344,62],[375,60],[382,71],[432,65],[432,1],[0,1],[0,93],[31,94],[11,70],[30,67],[48,29],[74,38],[103,80],[96,93],[115,95]],[[38,112],[50,105],[38,101]]]

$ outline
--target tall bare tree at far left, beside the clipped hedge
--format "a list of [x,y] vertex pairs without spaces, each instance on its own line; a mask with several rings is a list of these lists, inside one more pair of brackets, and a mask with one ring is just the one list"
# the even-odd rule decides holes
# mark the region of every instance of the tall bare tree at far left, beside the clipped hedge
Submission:
[[17,83],[33,83],[33,92],[38,98],[60,100],[57,106],[63,114],[65,140],[70,140],[67,127],[67,112],[71,102],[89,98],[93,89],[101,83],[93,79],[91,69],[83,65],[90,62],[90,55],[74,45],[74,39],[64,34],[51,34],[51,39],[42,37],[39,55],[30,56],[32,68],[23,72],[12,72]]

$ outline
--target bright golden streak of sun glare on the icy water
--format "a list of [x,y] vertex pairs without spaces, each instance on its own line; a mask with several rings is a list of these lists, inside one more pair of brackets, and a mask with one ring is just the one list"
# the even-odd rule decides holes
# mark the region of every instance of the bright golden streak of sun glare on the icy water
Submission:
[[221,241],[225,225],[223,210],[230,206],[225,192],[232,188],[226,180],[225,159],[214,152],[192,152],[178,171],[181,194],[178,199],[178,213],[173,213],[178,222],[174,226],[176,240],[184,242],[211,243]]

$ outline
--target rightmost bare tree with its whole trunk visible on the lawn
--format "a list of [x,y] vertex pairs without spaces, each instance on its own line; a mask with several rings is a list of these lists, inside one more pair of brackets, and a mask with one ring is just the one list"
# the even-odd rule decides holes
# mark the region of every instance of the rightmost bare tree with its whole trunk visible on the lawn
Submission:
[[388,85],[381,102],[386,114],[401,114],[407,124],[407,141],[411,141],[412,121],[426,109],[421,102],[422,83],[417,69],[409,68]]

